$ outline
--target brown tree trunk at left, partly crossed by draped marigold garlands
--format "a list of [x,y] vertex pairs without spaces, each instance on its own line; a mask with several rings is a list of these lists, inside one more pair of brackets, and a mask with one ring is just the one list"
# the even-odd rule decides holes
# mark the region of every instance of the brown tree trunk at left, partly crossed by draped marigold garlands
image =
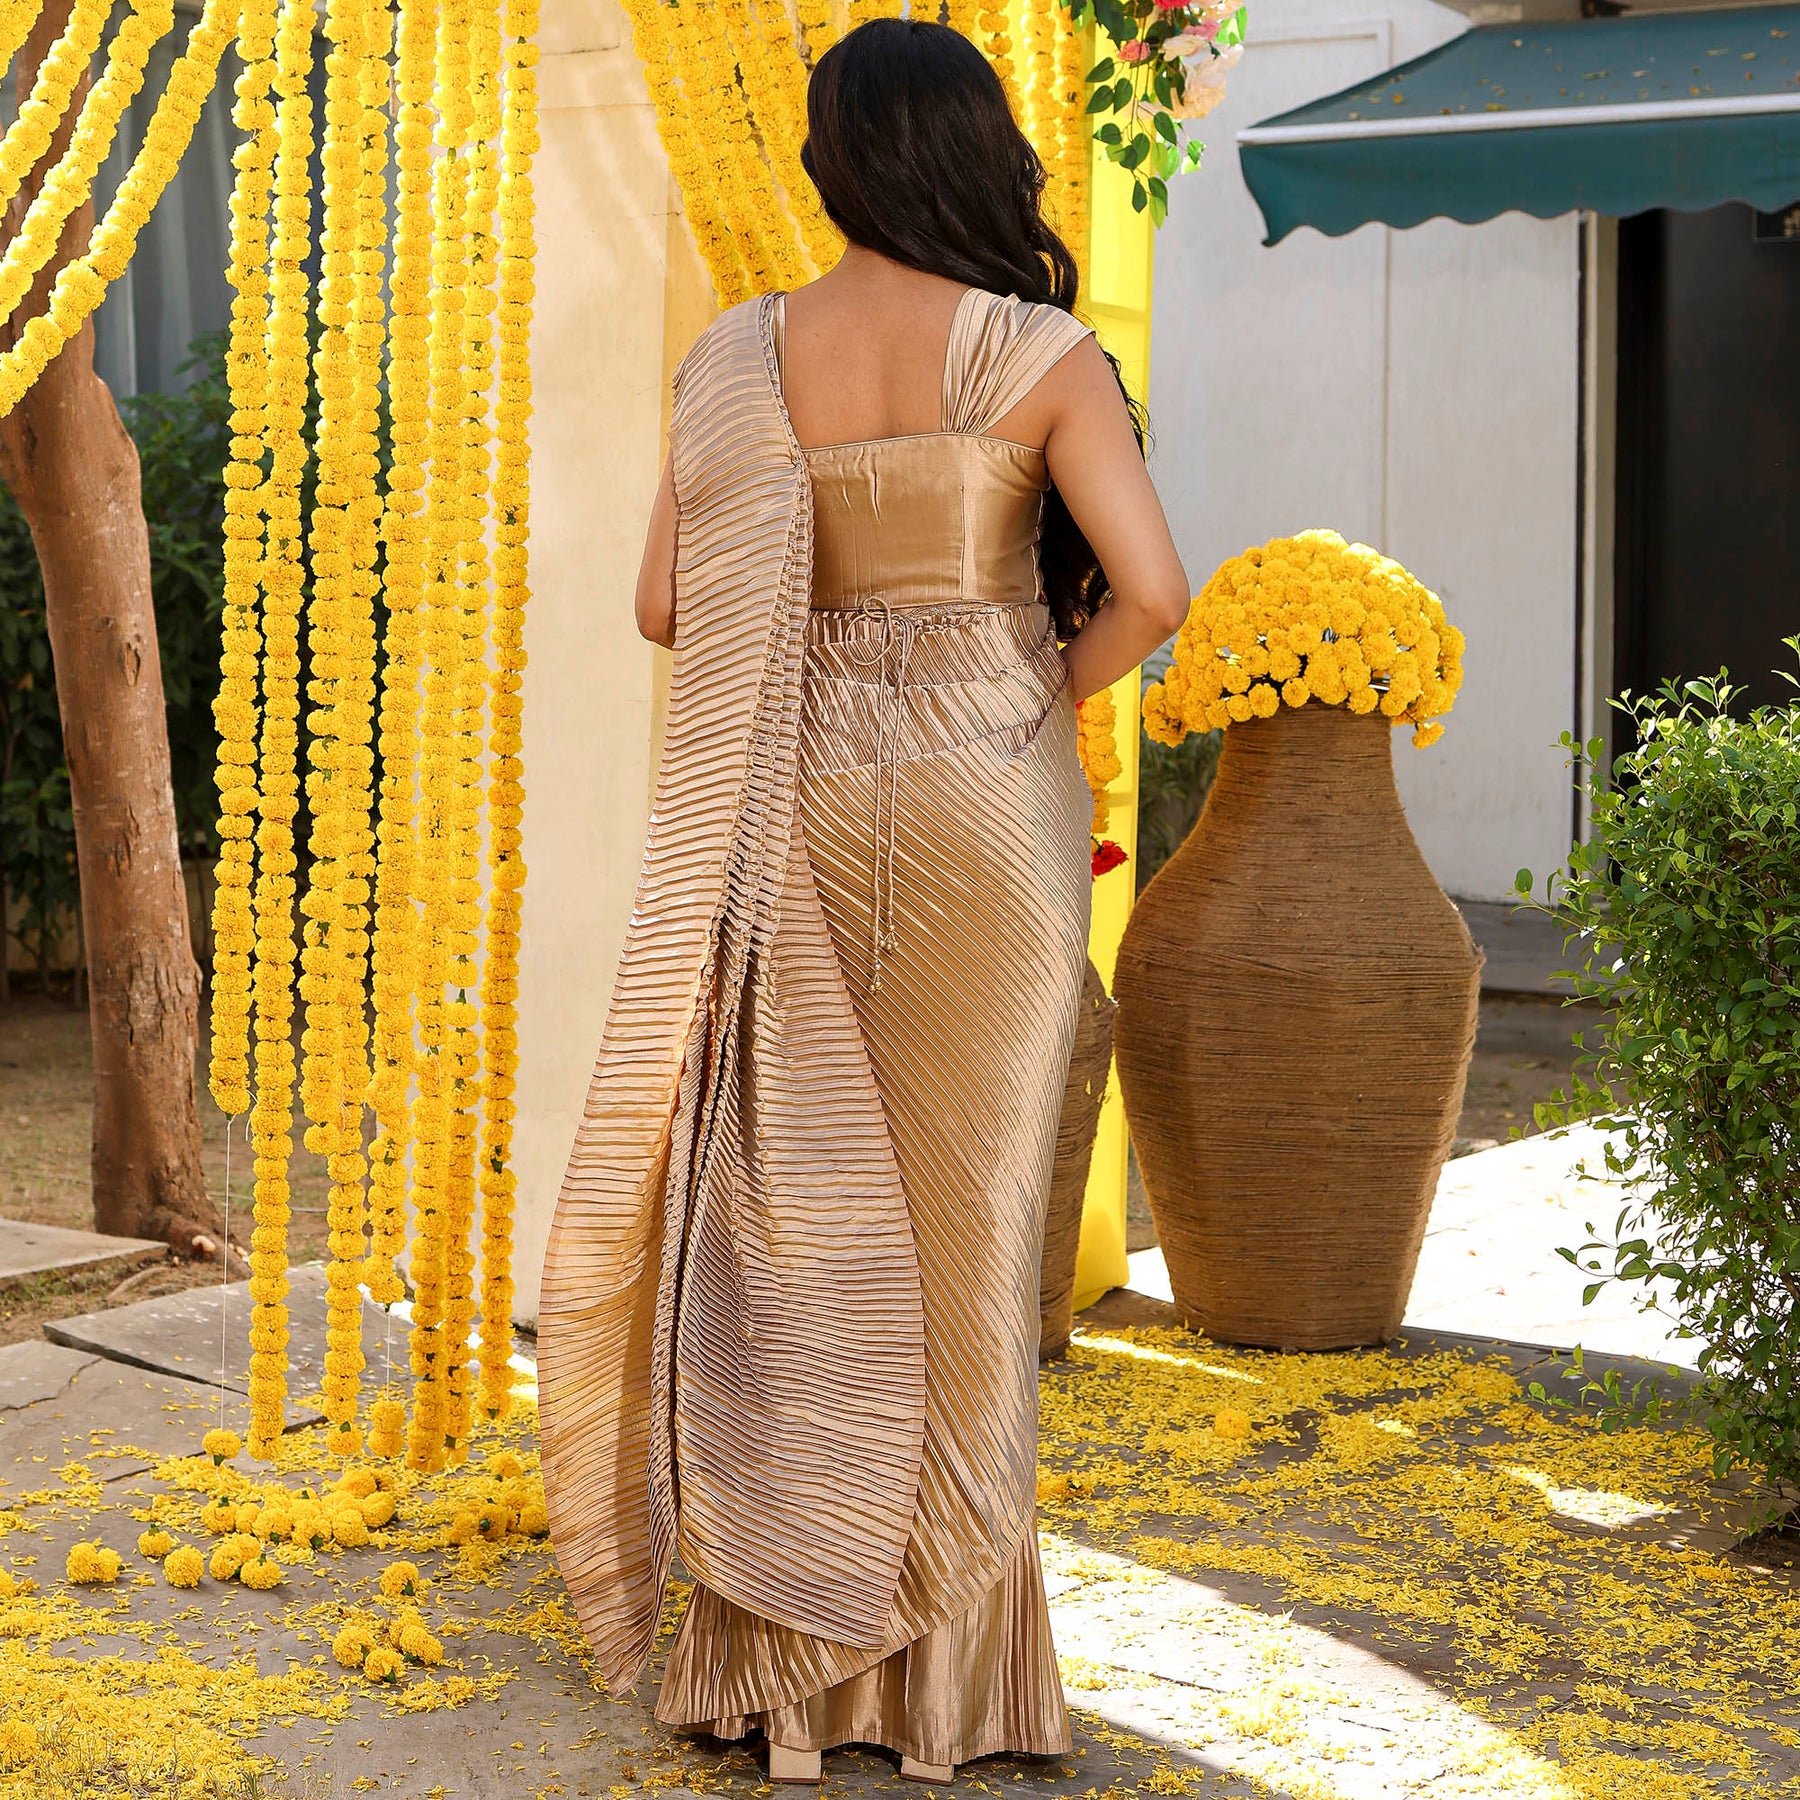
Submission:
[[[68,0],[45,5],[20,52],[20,104],[67,20]],[[85,92],[83,83],[7,209],[7,243],[68,142]],[[14,342],[43,310],[92,229],[85,203],[0,340]],[[94,1039],[94,1224],[162,1238],[184,1256],[216,1255],[223,1233],[200,1166],[194,1098],[200,970],[187,941],[149,535],[137,446],[94,373],[92,324],[0,419],[0,477],[43,569],[68,758]]]

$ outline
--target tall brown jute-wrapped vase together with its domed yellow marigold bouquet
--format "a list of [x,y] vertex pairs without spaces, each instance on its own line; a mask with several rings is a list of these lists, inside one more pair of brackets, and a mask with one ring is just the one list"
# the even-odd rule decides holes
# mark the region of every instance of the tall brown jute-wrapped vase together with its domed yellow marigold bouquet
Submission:
[[1219,569],[1145,693],[1163,743],[1226,733],[1114,977],[1175,1303],[1213,1337],[1337,1348],[1400,1325],[1480,956],[1406,824],[1391,727],[1435,743],[1462,657],[1397,562],[1303,531]]

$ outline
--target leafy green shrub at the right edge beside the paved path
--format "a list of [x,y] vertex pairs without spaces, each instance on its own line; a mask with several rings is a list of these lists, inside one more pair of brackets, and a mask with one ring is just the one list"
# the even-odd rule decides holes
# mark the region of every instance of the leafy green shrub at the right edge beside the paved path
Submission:
[[[1733,718],[1730,698],[1723,675],[1627,697],[1638,749],[1613,779],[1598,742],[1564,738],[1593,833],[1555,900],[1582,949],[1579,997],[1604,1001],[1609,1022],[1539,1123],[1606,1127],[1625,1188],[1611,1237],[1561,1253],[1597,1276],[1586,1298],[1665,1283],[1663,1310],[1699,1343],[1694,1400],[1717,1472],[1795,1481],[1800,704]],[[1616,1386],[1606,1402],[1611,1422],[1642,1417]]]

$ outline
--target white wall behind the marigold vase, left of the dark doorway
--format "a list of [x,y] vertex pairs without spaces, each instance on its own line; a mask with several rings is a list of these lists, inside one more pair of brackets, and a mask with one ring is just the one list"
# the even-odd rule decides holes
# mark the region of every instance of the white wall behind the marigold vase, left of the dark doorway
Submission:
[[1195,589],[1330,526],[1404,562],[1469,637],[1444,740],[1395,734],[1438,880],[1498,900],[1559,864],[1573,725],[1577,221],[1507,214],[1274,248],[1237,131],[1465,29],[1433,0],[1260,0],[1206,160],[1156,247],[1154,472]]

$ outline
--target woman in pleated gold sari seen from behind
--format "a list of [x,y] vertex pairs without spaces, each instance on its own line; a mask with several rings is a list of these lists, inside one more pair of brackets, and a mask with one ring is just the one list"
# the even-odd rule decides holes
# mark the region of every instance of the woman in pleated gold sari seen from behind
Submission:
[[[821,58],[850,247],[675,380],[637,590],[675,650],[540,1314],[599,1670],[949,1780],[1069,1748],[1035,1535],[1037,1271],[1087,940],[1075,702],[1188,585],[1044,171],[956,32]],[[1058,648],[1058,639],[1067,648]]]

